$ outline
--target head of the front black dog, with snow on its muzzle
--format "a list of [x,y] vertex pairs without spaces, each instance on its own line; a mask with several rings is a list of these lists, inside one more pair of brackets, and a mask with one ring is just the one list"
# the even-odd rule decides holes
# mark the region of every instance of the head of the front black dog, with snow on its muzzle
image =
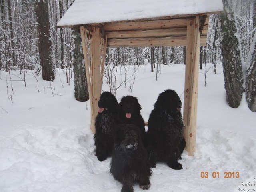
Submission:
[[138,148],[140,134],[134,124],[120,124],[117,128],[115,144],[122,150],[131,152]]

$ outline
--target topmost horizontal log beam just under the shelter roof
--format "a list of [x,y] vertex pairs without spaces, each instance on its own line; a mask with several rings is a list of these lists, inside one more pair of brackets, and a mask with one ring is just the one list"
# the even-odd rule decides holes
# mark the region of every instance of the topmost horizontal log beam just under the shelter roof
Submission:
[[109,31],[126,31],[126,30],[150,30],[150,29],[166,29],[166,28],[182,28],[186,27],[187,18],[169,19],[169,20],[153,20],[138,22],[123,22],[116,24],[106,24],[103,26],[105,32]]

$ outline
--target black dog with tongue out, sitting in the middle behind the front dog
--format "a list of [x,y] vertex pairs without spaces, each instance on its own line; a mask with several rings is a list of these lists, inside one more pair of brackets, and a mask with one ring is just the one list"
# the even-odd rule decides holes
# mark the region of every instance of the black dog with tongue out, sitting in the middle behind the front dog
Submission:
[[136,97],[130,95],[122,97],[118,110],[119,123],[135,124],[139,129],[144,145],[146,145],[145,122],[140,110],[141,106]]

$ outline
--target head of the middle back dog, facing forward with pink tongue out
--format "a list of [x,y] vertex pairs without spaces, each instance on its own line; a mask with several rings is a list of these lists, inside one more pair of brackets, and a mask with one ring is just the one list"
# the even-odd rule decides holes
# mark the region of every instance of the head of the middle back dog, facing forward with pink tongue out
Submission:
[[134,96],[122,97],[119,103],[119,116],[122,120],[132,121],[140,114],[141,106]]

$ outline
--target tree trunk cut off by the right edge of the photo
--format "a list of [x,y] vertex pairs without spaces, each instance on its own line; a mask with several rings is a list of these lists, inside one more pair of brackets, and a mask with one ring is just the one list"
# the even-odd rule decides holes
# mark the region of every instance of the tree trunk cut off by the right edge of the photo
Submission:
[[[256,27],[256,2],[253,2],[253,28]],[[251,111],[256,112],[256,33],[253,32],[253,52],[249,55],[250,66],[246,70],[246,101]]]

